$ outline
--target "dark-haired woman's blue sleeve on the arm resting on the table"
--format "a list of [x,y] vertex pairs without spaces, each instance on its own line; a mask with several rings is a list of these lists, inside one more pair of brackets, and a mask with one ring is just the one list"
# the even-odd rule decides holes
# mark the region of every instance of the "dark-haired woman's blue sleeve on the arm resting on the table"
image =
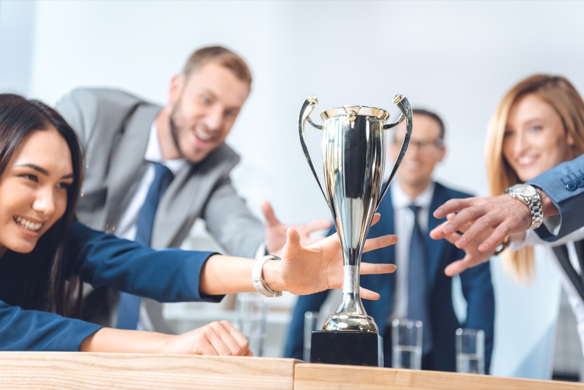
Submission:
[[79,351],[102,326],[57,314],[23,310],[0,301],[0,350]]

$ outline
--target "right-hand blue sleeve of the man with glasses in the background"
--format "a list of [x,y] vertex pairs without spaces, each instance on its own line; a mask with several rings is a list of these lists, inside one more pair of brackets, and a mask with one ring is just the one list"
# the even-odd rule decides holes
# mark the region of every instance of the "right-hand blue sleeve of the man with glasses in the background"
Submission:
[[467,301],[467,320],[463,327],[485,331],[485,373],[488,374],[495,329],[495,294],[491,283],[491,263],[482,263],[465,270],[460,274],[460,281]]

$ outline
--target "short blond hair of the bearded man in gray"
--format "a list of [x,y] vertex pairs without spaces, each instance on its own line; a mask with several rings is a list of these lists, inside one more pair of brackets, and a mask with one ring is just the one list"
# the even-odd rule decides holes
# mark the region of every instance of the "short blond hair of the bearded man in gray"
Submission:
[[252,72],[249,71],[248,65],[243,58],[223,46],[202,47],[194,51],[186,60],[182,74],[188,78],[192,72],[210,62],[230,69],[238,79],[248,83],[251,88]]

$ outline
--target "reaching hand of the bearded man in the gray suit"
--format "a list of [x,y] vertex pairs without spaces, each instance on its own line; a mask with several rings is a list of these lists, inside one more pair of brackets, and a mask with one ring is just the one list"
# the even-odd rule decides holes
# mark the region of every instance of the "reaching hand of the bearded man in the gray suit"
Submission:
[[307,222],[305,224],[298,225],[284,225],[276,218],[272,206],[267,202],[262,202],[262,213],[266,218],[266,241],[267,241],[267,252],[270,255],[276,255],[281,257],[281,251],[286,243],[286,231],[288,228],[294,228],[300,235],[301,245],[310,245],[314,242],[321,240],[322,238],[310,238],[312,232],[329,229],[331,227],[331,222],[328,220],[314,220]]

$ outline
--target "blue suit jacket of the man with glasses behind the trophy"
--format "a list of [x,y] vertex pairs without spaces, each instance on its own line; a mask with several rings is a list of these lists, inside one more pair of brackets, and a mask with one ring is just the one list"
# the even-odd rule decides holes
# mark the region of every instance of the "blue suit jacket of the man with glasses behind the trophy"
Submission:
[[[460,191],[451,190],[436,183],[430,216],[428,231],[440,224],[440,220],[433,217],[432,212],[449,199],[463,198],[470,195]],[[391,203],[391,191],[388,191],[377,209],[381,214],[381,220],[371,227],[369,237],[377,237],[395,232],[394,210]],[[332,229],[332,233],[334,229]],[[331,233],[331,234],[332,234]],[[495,298],[491,283],[491,270],[489,263],[481,264],[464,271],[460,275],[463,294],[468,303],[466,322],[458,322],[454,314],[451,293],[451,278],[444,275],[444,268],[455,260],[464,257],[464,250],[456,248],[446,240],[434,241],[427,236],[427,245],[430,252],[429,280],[430,280],[430,319],[433,332],[433,353],[430,369],[440,371],[456,371],[456,352],[454,335],[457,328],[474,328],[485,331],[485,372],[488,372],[491,364],[493,349],[493,326],[495,321]],[[395,263],[395,248],[388,246],[363,254],[363,262],[369,263]],[[399,272],[399,269],[396,271]],[[391,340],[385,337],[387,318],[393,311],[395,274],[363,275],[360,277],[362,287],[377,291],[381,298],[377,301],[363,300],[363,306],[368,315],[377,323],[381,336],[384,336],[385,366],[391,367]],[[303,295],[298,297],[294,308],[293,318],[290,323],[286,351],[284,356],[303,358],[303,329],[304,313],[307,311],[319,311],[324,302],[327,291],[318,294]]]

